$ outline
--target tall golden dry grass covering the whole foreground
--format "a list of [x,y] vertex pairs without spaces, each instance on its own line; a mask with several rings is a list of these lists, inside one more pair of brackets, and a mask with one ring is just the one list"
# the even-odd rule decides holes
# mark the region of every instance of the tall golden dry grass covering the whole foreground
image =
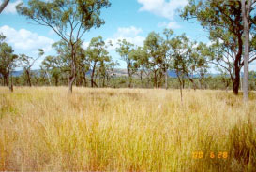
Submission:
[[255,93],[2,87],[0,170],[254,171],[255,126]]

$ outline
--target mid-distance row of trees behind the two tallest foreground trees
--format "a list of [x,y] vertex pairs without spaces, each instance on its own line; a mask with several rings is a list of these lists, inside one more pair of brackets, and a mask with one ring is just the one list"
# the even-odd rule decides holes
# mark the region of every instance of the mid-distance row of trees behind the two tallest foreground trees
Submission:
[[[191,42],[187,36],[173,36],[172,30],[165,30],[164,39],[155,32],[150,33],[143,47],[135,47],[127,40],[119,40],[116,51],[127,64],[127,69],[116,72],[119,67],[114,62],[107,51],[108,46],[113,46],[111,42],[106,45],[101,36],[92,38],[88,48],[84,50],[79,47],[80,56],[77,57],[77,71],[74,84],[83,87],[112,87],[112,88],[182,88],[191,89],[232,89],[232,79],[228,73],[218,68],[220,74],[211,76],[209,73],[209,63],[200,56],[202,50],[211,53],[209,48],[203,43]],[[167,35],[169,34],[169,35]],[[168,40],[173,36],[173,39]],[[2,36],[4,37],[4,36]],[[178,42],[178,43],[177,43]],[[168,45],[169,44],[169,45]],[[4,45],[4,44],[3,44]],[[172,47],[171,50],[170,47]],[[162,59],[160,53],[175,53],[174,48],[187,53],[183,58]],[[11,50],[11,47],[9,47]],[[53,48],[58,53],[57,56],[46,56],[37,71],[31,70],[34,63],[43,55],[43,50],[39,50],[38,58],[33,58],[21,54],[12,54],[15,59],[15,67],[23,67],[21,76],[11,76],[11,81],[16,86],[67,86],[68,85],[68,46],[64,42],[56,42]],[[146,49],[151,51],[155,58],[150,59]],[[154,51],[155,50],[155,51]],[[176,50],[175,50],[176,51]],[[205,52],[204,52],[205,53]],[[65,58],[62,55],[67,55]],[[214,54],[211,54],[214,55]],[[154,61],[156,60],[157,61]],[[4,65],[3,65],[4,66]],[[170,77],[168,71],[174,73],[175,77]],[[3,70],[1,70],[3,71]],[[126,77],[124,76],[127,75]],[[256,90],[256,72],[249,72],[249,90]],[[1,85],[8,86],[8,76],[5,73],[0,75]]]

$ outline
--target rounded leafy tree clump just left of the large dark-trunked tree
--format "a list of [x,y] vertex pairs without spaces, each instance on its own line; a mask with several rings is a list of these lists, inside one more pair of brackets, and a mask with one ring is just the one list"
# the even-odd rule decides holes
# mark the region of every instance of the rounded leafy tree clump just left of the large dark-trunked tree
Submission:
[[202,87],[208,69],[206,57],[211,54],[209,48],[202,42],[190,41],[185,34],[174,37],[171,41],[171,47],[173,50],[173,70],[182,87],[184,87],[184,79],[188,78],[196,89],[194,74],[199,74],[200,87]]

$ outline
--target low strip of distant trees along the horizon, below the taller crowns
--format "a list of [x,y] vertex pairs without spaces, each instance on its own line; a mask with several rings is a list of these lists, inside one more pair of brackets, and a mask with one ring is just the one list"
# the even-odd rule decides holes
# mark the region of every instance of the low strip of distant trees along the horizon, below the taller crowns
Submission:
[[[117,69],[118,70],[118,69]],[[169,71],[170,72],[170,71]],[[15,74],[16,72],[14,72]],[[50,72],[51,75],[48,75],[44,70],[38,69],[38,70],[32,70],[30,72],[30,83],[33,87],[38,86],[68,86],[68,79],[66,75],[58,75],[55,76],[53,74],[53,71]],[[132,78],[131,88],[143,88],[143,89],[152,89],[154,87],[154,82],[152,81],[152,78],[146,78],[143,76],[143,78],[140,78],[140,73],[136,73],[134,77]],[[95,79],[94,86],[91,85],[90,82],[90,75],[91,71],[89,71],[86,74],[86,78],[79,78],[75,80],[75,86],[76,87],[88,87],[88,88],[128,88],[128,77],[124,76],[124,74],[120,74],[120,72],[114,70],[113,73],[110,74],[110,77],[108,79],[100,80],[99,78]],[[197,84],[197,89],[200,90],[225,90],[229,91],[233,89],[232,81],[227,75],[219,74],[219,75],[207,75],[205,79],[200,80],[198,76],[193,77],[195,83]],[[19,75],[13,75],[12,76],[12,82],[15,86],[30,86],[29,82],[27,80],[27,76],[24,71],[19,71]],[[242,82],[242,79],[241,79]],[[179,81],[176,76],[169,75],[167,80],[167,88],[169,89],[179,89]],[[242,85],[242,83],[240,83]],[[3,76],[0,78],[0,85],[1,86],[7,86],[7,83],[5,82],[5,79]],[[194,89],[193,85],[189,82],[188,78],[184,79],[183,89]],[[158,80],[158,88],[164,88],[165,87],[165,80],[159,79]],[[240,87],[240,89],[242,89]],[[256,72],[251,71],[249,72],[249,81],[248,81],[248,89],[249,91],[256,91]]]

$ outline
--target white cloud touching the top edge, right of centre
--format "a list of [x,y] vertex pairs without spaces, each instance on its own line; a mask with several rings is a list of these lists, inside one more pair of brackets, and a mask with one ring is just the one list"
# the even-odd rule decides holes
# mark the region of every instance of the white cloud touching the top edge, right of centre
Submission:
[[155,15],[173,20],[176,10],[185,7],[188,0],[137,0],[143,7],[140,11],[148,11]]

